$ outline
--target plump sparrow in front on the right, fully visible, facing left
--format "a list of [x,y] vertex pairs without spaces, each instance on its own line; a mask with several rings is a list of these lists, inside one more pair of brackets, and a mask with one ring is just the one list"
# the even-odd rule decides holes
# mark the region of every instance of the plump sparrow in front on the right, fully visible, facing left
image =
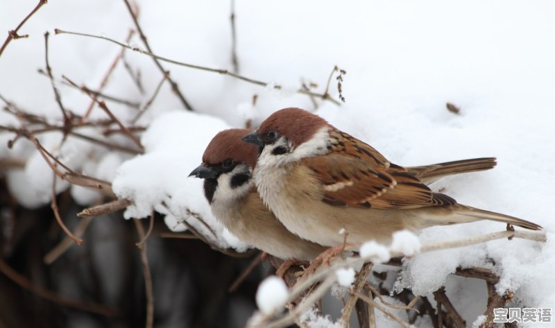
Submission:
[[344,243],[339,232],[350,245],[387,243],[398,230],[480,220],[541,229],[433,192],[425,169],[393,164],[307,110],[279,110],[243,140],[259,147],[254,180],[264,203],[289,231],[320,245]]

